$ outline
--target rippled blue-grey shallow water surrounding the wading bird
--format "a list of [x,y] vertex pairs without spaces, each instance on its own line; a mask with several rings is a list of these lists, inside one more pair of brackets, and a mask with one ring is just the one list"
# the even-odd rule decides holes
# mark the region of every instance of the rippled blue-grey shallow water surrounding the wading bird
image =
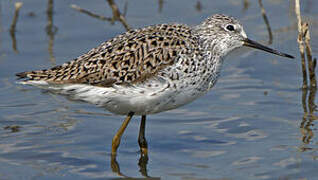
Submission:
[[[110,150],[124,117],[18,85],[14,76],[75,58],[124,32],[123,24],[70,8],[76,4],[111,17],[106,1],[65,0],[51,1],[53,26],[48,26],[49,1],[24,0],[13,48],[9,32],[14,2],[0,2],[0,179],[123,178],[112,171]],[[250,38],[268,42],[257,1],[180,2],[118,0],[116,5],[133,28],[166,22],[197,24],[211,14],[224,13],[240,19]],[[148,116],[149,161],[142,166],[137,143],[140,117],[134,117],[117,156],[123,175],[142,178],[140,169],[146,168],[149,176],[161,179],[318,177],[317,122],[314,116],[304,116],[293,1],[263,4],[273,32],[271,46],[296,59],[250,49],[234,52],[206,96]],[[314,55],[318,52],[317,13],[318,2],[302,1],[302,14],[311,23]]]

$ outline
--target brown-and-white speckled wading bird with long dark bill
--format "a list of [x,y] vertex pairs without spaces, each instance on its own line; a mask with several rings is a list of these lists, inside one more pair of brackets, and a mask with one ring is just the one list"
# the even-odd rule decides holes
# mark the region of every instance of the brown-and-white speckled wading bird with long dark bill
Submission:
[[217,14],[193,27],[161,24],[135,29],[60,66],[17,76],[25,78],[23,84],[40,85],[127,115],[114,136],[113,154],[131,117],[142,115],[139,144],[146,152],[146,115],[177,108],[207,93],[224,57],[243,45],[292,57],[251,41],[238,20]]

